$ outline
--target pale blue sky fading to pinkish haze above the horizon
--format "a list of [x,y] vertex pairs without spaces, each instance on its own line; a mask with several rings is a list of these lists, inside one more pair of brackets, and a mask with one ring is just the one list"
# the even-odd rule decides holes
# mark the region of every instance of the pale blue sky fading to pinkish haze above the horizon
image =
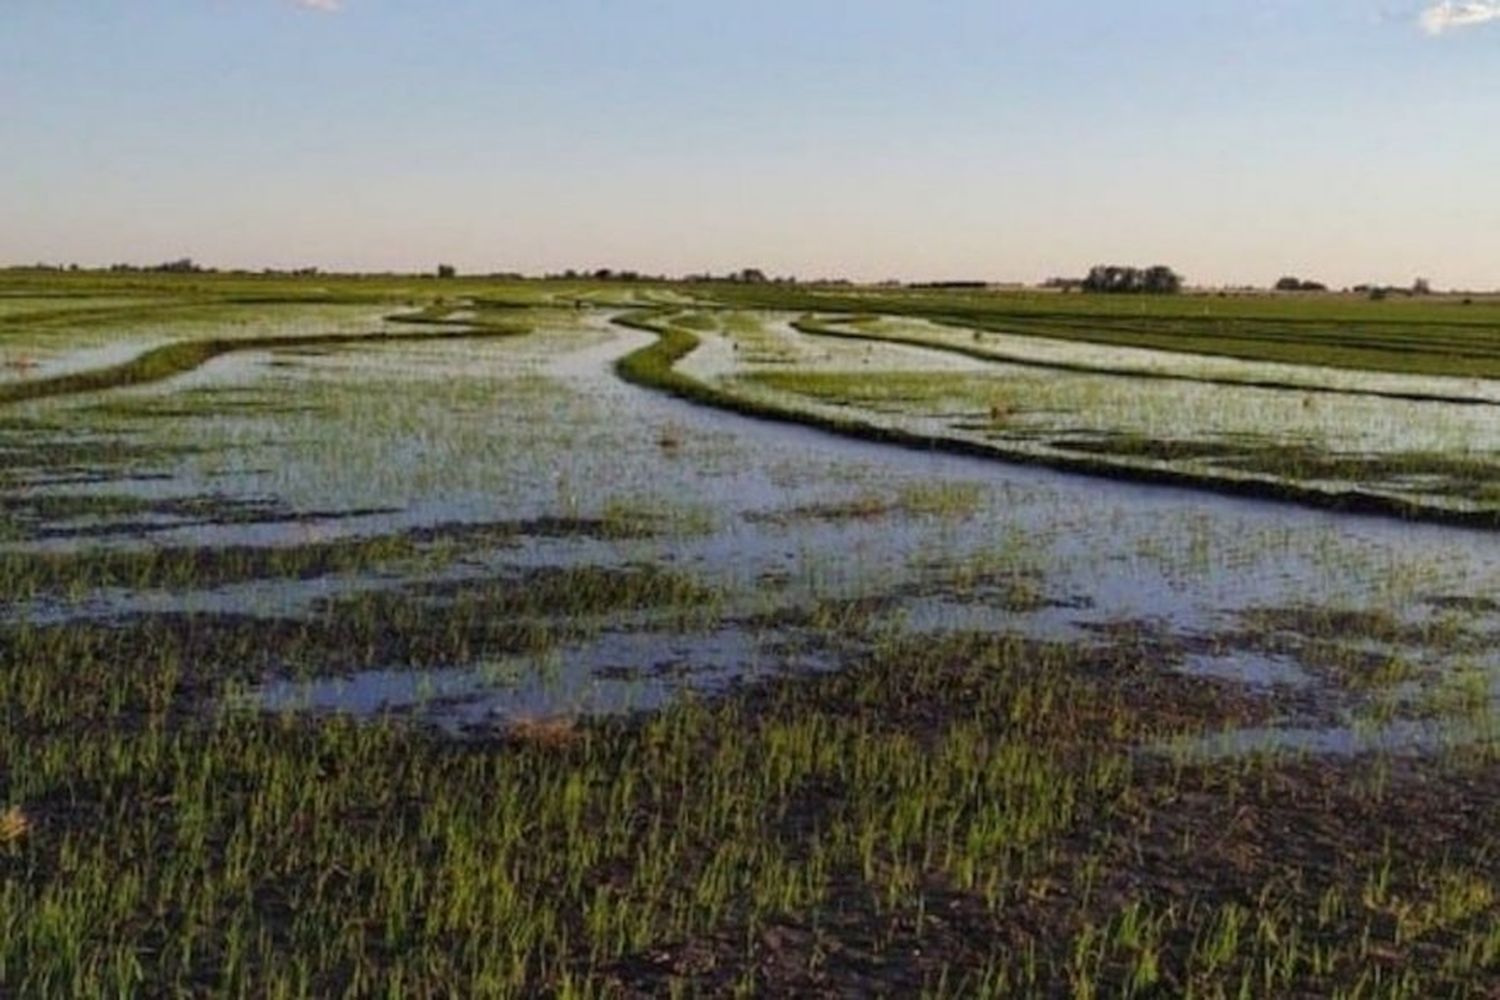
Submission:
[[1500,286],[1500,1],[3,6],[0,264]]

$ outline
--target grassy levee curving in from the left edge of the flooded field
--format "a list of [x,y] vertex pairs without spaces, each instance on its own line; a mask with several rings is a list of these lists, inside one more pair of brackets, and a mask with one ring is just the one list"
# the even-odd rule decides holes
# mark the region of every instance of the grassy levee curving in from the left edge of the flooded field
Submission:
[[[441,322],[441,321],[428,321]],[[146,385],[190,372],[213,358],[236,351],[266,351],[273,348],[338,346],[344,343],[399,343],[404,340],[466,340],[480,337],[510,337],[526,333],[516,327],[476,327],[465,324],[460,330],[438,333],[328,333],[288,337],[243,337],[212,340],[180,340],[142,352],[140,357],[92,369],[39,378],[28,382],[0,385],[0,405],[21,403],[52,396],[98,393],[129,385]]]

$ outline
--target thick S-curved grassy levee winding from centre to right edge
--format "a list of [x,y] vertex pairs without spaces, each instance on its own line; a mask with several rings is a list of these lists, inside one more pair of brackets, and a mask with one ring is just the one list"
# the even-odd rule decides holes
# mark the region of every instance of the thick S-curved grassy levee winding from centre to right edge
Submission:
[[1244,496],[1250,499],[1294,502],[1346,514],[1400,517],[1404,520],[1422,520],[1462,528],[1500,528],[1500,511],[1497,510],[1456,510],[1420,504],[1398,496],[1366,493],[1362,490],[1328,490],[1282,480],[1230,478],[1188,469],[1124,465],[1102,457],[1094,459],[1083,456],[1036,454],[1022,451],[1018,448],[1006,448],[1004,445],[944,438],[939,435],[903,430],[900,427],[882,427],[862,420],[848,420],[825,414],[789,409],[774,403],[736,396],[678,372],[675,364],[687,357],[700,343],[700,340],[698,334],[690,330],[663,322],[662,313],[628,313],[616,316],[615,322],[633,330],[654,333],[658,337],[656,343],[646,345],[616,363],[615,370],[621,378],[636,385],[670,393],[688,402],[717,406],[720,409],[728,409],[747,417],[819,427],[834,433],[849,435],[879,444],[915,448],[920,451],[945,451],[984,459],[1002,459],[1005,462],[1035,465],[1078,475],[1156,486],[1178,486],[1184,489],[1204,490],[1227,496]]

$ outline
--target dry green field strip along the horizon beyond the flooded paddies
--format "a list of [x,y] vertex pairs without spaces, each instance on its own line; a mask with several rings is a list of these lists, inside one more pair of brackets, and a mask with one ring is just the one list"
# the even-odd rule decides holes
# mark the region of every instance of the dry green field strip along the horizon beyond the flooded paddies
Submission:
[[[12,307],[8,297],[140,298],[166,295],[228,303],[392,303],[434,297],[496,297],[639,301],[658,295],[694,297],[726,306],[782,312],[918,316],[964,328],[1086,343],[1191,351],[1245,360],[1324,364],[1425,375],[1500,376],[1500,298],[1473,295],[1083,295],[1024,291],[926,291],[810,288],[784,285],[656,285],[626,282],[513,282],[459,277],[279,277],[279,276],[102,276],[0,274],[0,336]],[[108,301],[99,321],[129,309]],[[160,303],[159,303],[160,304]],[[58,312],[92,309],[69,301]],[[33,318],[34,319],[34,318]],[[58,321],[63,321],[58,316]],[[51,322],[51,319],[48,319]],[[12,324],[14,328],[14,324]]]

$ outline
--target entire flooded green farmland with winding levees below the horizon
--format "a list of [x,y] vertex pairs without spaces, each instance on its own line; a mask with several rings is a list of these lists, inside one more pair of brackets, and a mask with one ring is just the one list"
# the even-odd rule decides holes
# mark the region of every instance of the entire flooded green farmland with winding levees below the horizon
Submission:
[[0,993],[1500,988],[1500,303],[0,276]]

